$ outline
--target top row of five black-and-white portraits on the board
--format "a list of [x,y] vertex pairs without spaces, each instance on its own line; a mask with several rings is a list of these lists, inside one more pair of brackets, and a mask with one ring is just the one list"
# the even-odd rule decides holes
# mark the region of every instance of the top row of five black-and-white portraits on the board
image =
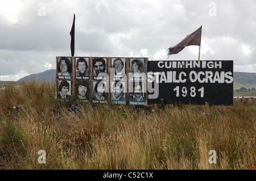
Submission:
[[[129,73],[138,77],[145,73],[144,58],[130,58]],[[76,57],[76,79],[89,80],[89,57]],[[93,57],[93,80],[105,80],[108,74],[108,58]],[[126,70],[126,58],[111,58],[111,68],[114,68],[113,81],[120,81]],[[106,74],[101,74],[106,73]],[[57,79],[72,79],[72,57],[57,57]],[[135,79],[133,79],[135,80]],[[140,79],[141,81],[141,79]]]

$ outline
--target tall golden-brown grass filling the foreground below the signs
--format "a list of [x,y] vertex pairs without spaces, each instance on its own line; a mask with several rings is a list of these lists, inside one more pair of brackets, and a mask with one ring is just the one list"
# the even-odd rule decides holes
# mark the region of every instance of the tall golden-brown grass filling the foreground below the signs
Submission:
[[77,103],[72,111],[54,84],[31,81],[6,86],[0,104],[0,169],[255,169],[253,98],[164,110]]

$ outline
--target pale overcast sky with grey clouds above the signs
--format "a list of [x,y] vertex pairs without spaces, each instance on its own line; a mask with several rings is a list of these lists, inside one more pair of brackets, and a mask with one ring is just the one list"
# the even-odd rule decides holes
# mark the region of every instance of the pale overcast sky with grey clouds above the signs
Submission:
[[168,48],[203,26],[200,60],[234,60],[256,73],[254,0],[0,1],[0,81],[56,69],[56,56],[198,60],[199,46]]

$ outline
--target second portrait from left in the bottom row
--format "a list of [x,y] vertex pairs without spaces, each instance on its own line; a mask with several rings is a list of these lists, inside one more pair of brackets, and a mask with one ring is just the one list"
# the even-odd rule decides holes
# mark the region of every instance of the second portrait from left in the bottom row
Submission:
[[88,102],[89,92],[90,92],[90,82],[89,81],[76,81],[76,95],[80,102]]

